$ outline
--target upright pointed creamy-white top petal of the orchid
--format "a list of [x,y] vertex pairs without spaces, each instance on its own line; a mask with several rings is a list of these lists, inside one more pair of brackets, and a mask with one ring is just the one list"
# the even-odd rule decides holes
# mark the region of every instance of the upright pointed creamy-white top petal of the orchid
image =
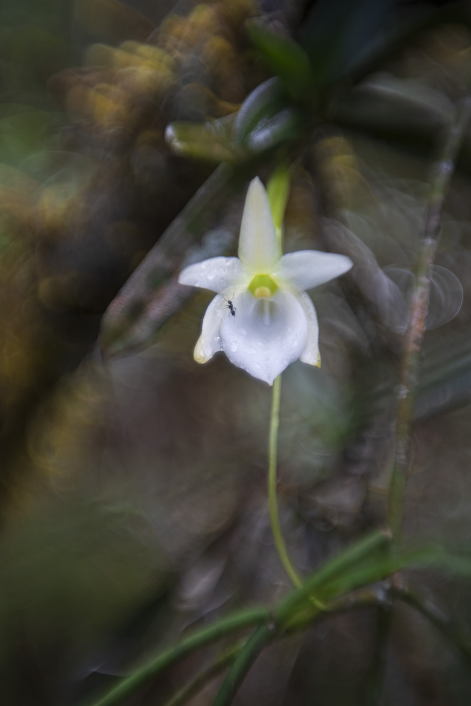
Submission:
[[280,241],[270,202],[258,177],[252,179],[245,199],[239,237],[239,258],[256,274],[270,273],[281,257]]

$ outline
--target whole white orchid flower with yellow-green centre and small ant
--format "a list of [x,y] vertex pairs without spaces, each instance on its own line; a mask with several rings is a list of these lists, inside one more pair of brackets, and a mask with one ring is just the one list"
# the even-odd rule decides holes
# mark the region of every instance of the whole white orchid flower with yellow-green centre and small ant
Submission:
[[269,385],[298,358],[320,366],[316,309],[306,289],[352,264],[343,255],[315,250],[282,255],[268,196],[256,177],[245,200],[239,257],[210,258],[180,273],[181,285],[217,292],[203,318],[195,360],[205,363],[222,350]]

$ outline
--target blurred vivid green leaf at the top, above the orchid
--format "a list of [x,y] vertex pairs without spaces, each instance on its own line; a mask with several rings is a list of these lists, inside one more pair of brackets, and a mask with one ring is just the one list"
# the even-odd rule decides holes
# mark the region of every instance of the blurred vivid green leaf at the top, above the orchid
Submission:
[[281,80],[294,100],[305,102],[314,88],[314,72],[309,56],[290,37],[270,32],[260,23],[248,23],[249,35],[266,64]]

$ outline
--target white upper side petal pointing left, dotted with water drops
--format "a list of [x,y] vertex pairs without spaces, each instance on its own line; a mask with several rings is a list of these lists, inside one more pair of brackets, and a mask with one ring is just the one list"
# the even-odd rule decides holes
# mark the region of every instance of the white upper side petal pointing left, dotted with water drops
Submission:
[[178,281],[181,285],[210,289],[221,294],[227,289],[236,289],[244,279],[244,267],[239,258],[210,258],[181,270]]

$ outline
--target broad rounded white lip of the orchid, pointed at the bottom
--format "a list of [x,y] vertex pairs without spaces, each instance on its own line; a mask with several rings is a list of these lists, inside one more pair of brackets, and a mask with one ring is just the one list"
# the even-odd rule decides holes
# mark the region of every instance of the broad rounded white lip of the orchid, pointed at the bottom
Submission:
[[244,292],[233,304],[236,316],[227,311],[220,328],[222,350],[235,366],[273,385],[306,348],[304,307],[294,294],[280,290],[269,299]]

